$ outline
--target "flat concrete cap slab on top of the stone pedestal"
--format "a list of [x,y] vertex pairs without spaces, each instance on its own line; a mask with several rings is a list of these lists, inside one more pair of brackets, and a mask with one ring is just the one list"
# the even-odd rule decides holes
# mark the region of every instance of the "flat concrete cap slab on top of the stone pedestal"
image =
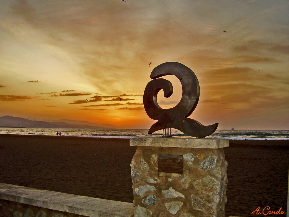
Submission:
[[167,138],[167,137],[137,137],[129,140],[130,146],[175,147],[175,148],[225,148],[229,139],[214,138]]

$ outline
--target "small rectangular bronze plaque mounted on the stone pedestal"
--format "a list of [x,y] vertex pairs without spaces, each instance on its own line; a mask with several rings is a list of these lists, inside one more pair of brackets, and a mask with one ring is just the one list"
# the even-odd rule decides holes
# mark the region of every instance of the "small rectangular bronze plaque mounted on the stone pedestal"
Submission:
[[158,155],[158,171],[183,173],[184,172],[184,158],[183,155]]

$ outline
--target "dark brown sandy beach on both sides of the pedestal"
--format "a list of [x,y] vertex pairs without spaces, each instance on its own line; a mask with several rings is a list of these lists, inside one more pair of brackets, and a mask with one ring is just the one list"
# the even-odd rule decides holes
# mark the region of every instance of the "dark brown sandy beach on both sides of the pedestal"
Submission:
[[[0,134],[0,182],[132,203],[135,150],[129,139]],[[231,140],[224,151],[226,216],[266,206],[286,216],[289,141]]]

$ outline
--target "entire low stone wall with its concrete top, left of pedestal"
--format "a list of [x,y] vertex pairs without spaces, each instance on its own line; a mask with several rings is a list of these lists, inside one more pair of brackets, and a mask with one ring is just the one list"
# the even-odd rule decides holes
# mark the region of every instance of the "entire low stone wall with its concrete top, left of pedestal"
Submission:
[[132,217],[132,203],[0,183],[0,217]]

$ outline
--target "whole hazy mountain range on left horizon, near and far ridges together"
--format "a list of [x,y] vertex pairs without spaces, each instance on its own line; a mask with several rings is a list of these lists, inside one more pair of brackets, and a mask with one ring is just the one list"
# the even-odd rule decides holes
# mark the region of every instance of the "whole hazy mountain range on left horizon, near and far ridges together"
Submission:
[[73,121],[68,119],[38,121],[29,120],[22,117],[3,116],[0,117],[0,127],[36,127],[36,128],[113,128],[112,125],[96,126],[94,123],[86,121]]

